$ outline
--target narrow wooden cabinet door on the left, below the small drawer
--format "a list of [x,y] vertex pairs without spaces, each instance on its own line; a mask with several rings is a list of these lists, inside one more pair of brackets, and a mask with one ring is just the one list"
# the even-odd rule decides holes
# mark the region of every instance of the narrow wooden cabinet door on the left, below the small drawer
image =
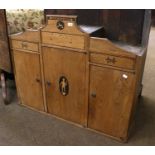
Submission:
[[21,51],[14,51],[13,55],[21,103],[44,110],[39,55]]

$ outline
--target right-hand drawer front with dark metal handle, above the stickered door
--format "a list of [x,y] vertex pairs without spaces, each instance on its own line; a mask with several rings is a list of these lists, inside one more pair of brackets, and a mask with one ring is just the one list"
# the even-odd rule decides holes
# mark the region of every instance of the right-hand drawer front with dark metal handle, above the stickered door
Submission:
[[134,69],[135,67],[135,61],[133,59],[111,56],[106,54],[91,53],[90,61],[93,63],[110,65],[125,69]]

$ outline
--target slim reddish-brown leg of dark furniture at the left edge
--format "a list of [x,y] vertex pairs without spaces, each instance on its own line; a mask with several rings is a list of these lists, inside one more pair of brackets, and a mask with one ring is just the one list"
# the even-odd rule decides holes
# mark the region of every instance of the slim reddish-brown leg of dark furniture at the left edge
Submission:
[[3,102],[5,105],[7,105],[8,99],[7,99],[7,85],[6,85],[6,78],[5,78],[5,74],[3,72],[0,73],[0,78],[1,78],[1,86],[2,86],[2,98],[3,98]]

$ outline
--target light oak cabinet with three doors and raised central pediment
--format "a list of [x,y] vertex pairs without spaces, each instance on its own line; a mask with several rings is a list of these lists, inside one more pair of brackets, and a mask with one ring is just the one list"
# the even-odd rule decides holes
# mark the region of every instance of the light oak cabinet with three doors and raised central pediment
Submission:
[[146,49],[103,32],[77,26],[76,16],[47,16],[44,28],[10,36],[18,95],[23,105],[125,141]]

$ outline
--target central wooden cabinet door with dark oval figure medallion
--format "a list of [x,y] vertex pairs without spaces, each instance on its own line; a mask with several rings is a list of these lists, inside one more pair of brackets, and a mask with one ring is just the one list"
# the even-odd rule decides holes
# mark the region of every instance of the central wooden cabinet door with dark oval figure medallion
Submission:
[[87,118],[86,54],[43,47],[48,112],[84,125]]

